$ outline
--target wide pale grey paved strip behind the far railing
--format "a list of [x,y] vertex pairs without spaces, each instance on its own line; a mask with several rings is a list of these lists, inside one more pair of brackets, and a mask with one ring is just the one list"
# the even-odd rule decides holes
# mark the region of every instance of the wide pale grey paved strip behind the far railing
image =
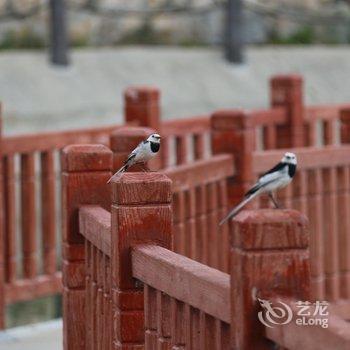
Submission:
[[217,49],[83,49],[68,69],[48,65],[43,52],[9,51],[0,54],[5,132],[120,121],[122,91],[132,84],[161,88],[164,118],[266,106],[268,78],[288,72],[305,76],[308,103],[350,100],[349,46],[255,47],[241,66],[225,63]]

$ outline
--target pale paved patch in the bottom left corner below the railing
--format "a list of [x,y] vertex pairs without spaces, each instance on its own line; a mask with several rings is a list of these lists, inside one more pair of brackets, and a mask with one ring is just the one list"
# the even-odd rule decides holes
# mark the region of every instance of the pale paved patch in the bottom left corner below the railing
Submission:
[[0,332],[0,350],[62,350],[62,320]]

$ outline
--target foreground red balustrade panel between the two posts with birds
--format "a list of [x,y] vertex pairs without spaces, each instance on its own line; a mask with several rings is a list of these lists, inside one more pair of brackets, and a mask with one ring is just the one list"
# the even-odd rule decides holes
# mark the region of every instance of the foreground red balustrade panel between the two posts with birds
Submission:
[[145,348],[228,349],[229,275],[153,245],[132,253],[144,283]]

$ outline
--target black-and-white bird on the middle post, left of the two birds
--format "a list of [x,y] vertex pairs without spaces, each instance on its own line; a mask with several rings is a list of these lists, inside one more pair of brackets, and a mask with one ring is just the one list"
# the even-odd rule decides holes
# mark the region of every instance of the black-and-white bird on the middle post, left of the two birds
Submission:
[[[160,139],[161,137],[158,134],[152,134],[147,140],[139,143],[139,145],[128,155],[124,165],[108,180],[107,183],[110,183],[118,174],[123,173],[132,165],[143,164],[143,169],[145,170],[145,163],[151,160],[160,149]],[[149,170],[148,168],[146,169]]]

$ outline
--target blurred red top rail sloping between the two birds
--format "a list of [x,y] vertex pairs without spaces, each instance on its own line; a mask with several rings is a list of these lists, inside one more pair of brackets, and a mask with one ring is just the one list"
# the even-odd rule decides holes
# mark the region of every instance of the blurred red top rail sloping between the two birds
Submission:
[[173,181],[173,192],[193,188],[234,175],[232,156],[220,154],[191,164],[177,165],[165,171]]

